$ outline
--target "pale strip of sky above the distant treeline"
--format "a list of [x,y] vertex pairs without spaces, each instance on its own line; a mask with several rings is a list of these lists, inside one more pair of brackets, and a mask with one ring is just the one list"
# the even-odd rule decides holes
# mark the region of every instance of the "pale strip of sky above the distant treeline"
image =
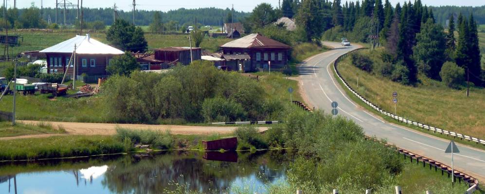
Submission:
[[[14,0],[6,0],[7,7],[11,7],[14,4]],[[56,0],[42,0],[44,7],[55,7]],[[64,2],[64,0],[58,0]],[[77,3],[77,0],[66,0],[66,3],[71,1]],[[345,0],[341,0],[345,3]],[[393,6],[400,2],[403,4],[404,0],[389,0]],[[457,6],[481,6],[485,5],[485,0],[421,0],[423,4],[440,6],[440,5],[457,5]],[[35,2],[37,7],[40,7],[41,0],[17,0],[18,8],[30,7],[31,2]],[[98,8],[98,7],[112,7],[114,3],[118,9],[131,10],[133,0],[83,0],[84,7]],[[200,7],[217,7],[228,8],[234,3],[234,9],[237,11],[251,12],[251,10],[259,3],[267,2],[278,6],[278,0],[136,0],[136,8],[143,10],[158,10],[169,11],[175,10],[181,7],[186,9],[194,9]],[[414,0],[412,0],[414,2]],[[481,2],[481,3],[480,3]]]

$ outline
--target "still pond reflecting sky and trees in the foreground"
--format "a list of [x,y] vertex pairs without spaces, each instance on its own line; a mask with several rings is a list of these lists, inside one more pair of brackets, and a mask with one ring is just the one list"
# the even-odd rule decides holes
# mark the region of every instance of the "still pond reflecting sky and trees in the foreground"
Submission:
[[165,151],[40,162],[0,163],[2,194],[264,193],[286,183],[295,152]]

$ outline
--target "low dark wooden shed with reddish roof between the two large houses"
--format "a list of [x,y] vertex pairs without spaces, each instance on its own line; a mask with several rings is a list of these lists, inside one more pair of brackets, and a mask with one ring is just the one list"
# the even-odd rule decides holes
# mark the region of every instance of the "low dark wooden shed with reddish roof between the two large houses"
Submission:
[[[178,62],[183,65],[190,64],[190,47],[168,47],[162,49],[155,49],[155,59],[164,61],[166,64],[177,64]],[[200,60],[202,49],[192,48],[192,60]]]

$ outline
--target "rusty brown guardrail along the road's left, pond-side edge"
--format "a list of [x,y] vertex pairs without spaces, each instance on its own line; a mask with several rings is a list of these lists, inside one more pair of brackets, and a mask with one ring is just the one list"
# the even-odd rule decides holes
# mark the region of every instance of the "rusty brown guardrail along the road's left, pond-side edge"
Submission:
[[[302,107],[306,107],[304,103],[300,102],[300,101],[293,101],[294,103],[297,103],[299,104],[300,106]],[[308,111],[308,112],[313,112],[312,110],[310,110],[309,108],[305,108],[305,111]],[[382,141],[379,141],[377,140],[376,138],[373,138],[373,137],[369,137],[369,136],[364,136],[364,138],[366,140],[372,140],[374,142],[377,142],[377,143],[380,143],[380,144],[383,144],[385,145],[386,147],[389,147],[393,150],[395,150],[396,152],[398,152],[399,154],[402,154],[404,155],[404,159],[406,160],[407,157],[410,158],[411,162],[413,162],[413,159],[416,160],[416,163],[419,163],[419,162],[423,162],[423,167],[426,167],[426,164],[429,164],[430,166],[430,170],[432,169],[432,167],[434,167],[434,170],[437,171],[438,169],[441,170],[441,175],[444,175],[444,172],[446,171],[448,173],[448,176],[451,175],[451,167],[446,165],[446,164],[443,164],[441,162],[437,162],[437,161],[434,161],[430,158],[426,158],[424,156],[421,156],[421,155],[418,155],[418,154],[415,154],[413,152],[410,152],[408,150],[405,150],[405,149],[402,149],[402,148],[399,148],[397,146],[394,146],[394,145],[391,145],[391,144],[388,144],[388,143],[385,143],[385,142],[382,142]],[[461,182],[462,180],[467,182],[468,183],[468,186],[470,187],[470,189],[478,189],[478,185],[479,185],[479,182],[478,182],[478,179],[464,173],[464,172],[461,172],[461,171],[458,171],[456,169],[453,170],[453,173],[455,175],[455,178],[458,178],[458,181]]]

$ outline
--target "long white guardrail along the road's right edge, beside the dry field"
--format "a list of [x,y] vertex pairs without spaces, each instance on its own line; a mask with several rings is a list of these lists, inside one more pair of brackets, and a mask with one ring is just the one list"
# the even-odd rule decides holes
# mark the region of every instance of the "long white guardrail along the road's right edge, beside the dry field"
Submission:
[[[365,48],[361,48],[361,49],[365,49]],[[464,135],[464,134],[461,134],[461,133],[453,132],[453,131],[448,131],[448,130],[440,129],[440,128],[437,128],[437,127],[431,127],[431,126],[426,125],[426,124],[418,123],[418,122],[415,122],[415,121],[412,121],[412,120],[409,120],[409,119],[406,119],[406,118],[397,116],[395,114],[385,112],[382,109],[380,109],[377,105],[369,102],[369,100],[367,100],[364,97],[360,96],[360,94],[357,93],[352,87],[350,87],[350,85],[347,83],[347,81],[345,81],[345,79],[342,78],[342,76],[339,73],[339,70],[337,70],[337,63],[341,59],[347,57],[350,53],[355,52],[357,50],[359,50],[359,49],[352,50],[352,51],[348,52],[347,54],[341,55],[339,58],[337,58],[337,60],[334,61],[334,65],[333,65],[333,69],[337,73],[337,76],[343,82],[343,84],[345,85],[345,87],[347,87],[350,90],[350,92],[352,92],[352,94],[354,94],[356,97],[358,97],[360,100],[362,100],[364,103],[366,103],[367,105],[369,105],[370,107],[372,107],[373,109],[375,109],[376,111],[378,111],[379,113],[384,114],[384,115],[387,115],[387,116],[389,116],[391,118],[394,118],[395,120],[400,121],[402,123],[407,123],[407,124],[410,124],[410,125],[414,125],[414,126],[420,127],[421,129],[428,129],[428,131],[433,131],[434,133],[438,132],[438,133],[441,133],[441,134],[451,135],[453,137],[458,137],[458,138],[461,138],[462,140],[465,139],[465,140],[468,140],[468,141],[473,141],[473,142],[475,142],[477,144],[482,144],[482,145],[485,146],[485,140],[478,139],[476,137],[471,137],[471,136],[468,136],[468,135]]]

